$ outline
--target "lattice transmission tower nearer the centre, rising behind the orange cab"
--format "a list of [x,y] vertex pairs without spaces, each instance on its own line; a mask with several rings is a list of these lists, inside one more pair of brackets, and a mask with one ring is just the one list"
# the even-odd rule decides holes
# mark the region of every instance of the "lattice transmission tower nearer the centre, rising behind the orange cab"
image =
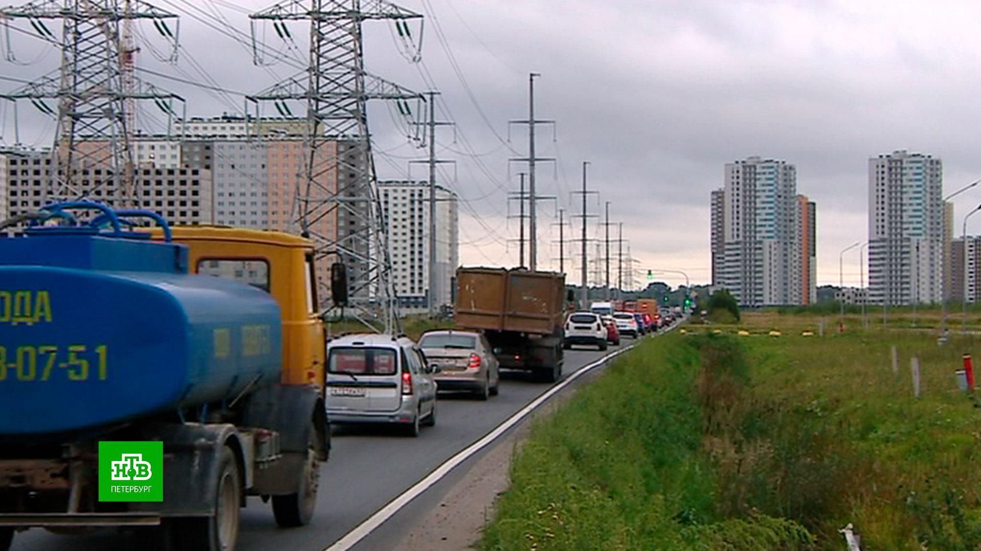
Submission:
[[[288,32],[285,22],[310,21],[306,71],[248,100],[256,104],[257,117],[260,102],[273,102],[284,115],[291,113],[287,102],[306,104],[303,167],[292,218],[317,242],[318,258],[346,267],[348,314],[376,329],[397,332],[398,303],[366,104],[394,100],[405,116],[411,112],[408,100],[422,101],[423,96],[365,71],[361,27],[364,21],[393,20],[398,36],[410,40],[408,22],[420,20],[421,25],[422,15],[385,0],[293,0],[249,17],[272,21],[281,35]],[[418,46],[413,58],[419,59]],[[325,220],[336,224],[317,224]]]

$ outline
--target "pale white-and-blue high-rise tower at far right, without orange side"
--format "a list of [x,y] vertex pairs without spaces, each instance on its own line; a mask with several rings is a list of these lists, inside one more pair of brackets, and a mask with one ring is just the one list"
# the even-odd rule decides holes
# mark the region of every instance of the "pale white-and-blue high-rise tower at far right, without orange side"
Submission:
[[938,302],[944,276],[943,164],[894,151],[868,161],[869,300]]

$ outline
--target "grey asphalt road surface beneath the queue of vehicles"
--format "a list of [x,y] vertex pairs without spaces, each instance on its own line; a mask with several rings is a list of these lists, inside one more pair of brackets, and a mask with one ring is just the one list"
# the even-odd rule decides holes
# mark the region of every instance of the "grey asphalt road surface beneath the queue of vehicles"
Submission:
[[[629,344],[630,339],[624,339]],[[576,348],[566,351],[563,377],[594,362],[607,352]],[[242,510],[238,551],[324,551],[392,498],[428,475],[439,464],[487,434],[492,428],[538,397],[550,385],[533,382],[522,373],[502,374],[500,394],[481,402],[469,397],[440,394],[437,424],[424,427],[416,437],[398,434],[387,426],[344,426],[336,429],[330,461],[322,467],[317,510],[309,526],[276,526],[270,505],[250,497]],[[570,385],[579,384],[580,381]],[[476,458],[471,461],[475,461]],[[464,476],[471,461],[447,478]],[[438,484],[406,510],[381,526],[355,549],[386,549],[394,545],[421,518],[434,499],[427,494],[446,490]],[[439,499],[439,498],[436,498]],[[391,526],[388,526],[391,525]],[[143,537],[146,536],[144,532]],[[151,537],[153,537],[151,535]],[[14,537],[12,551],[114,551],[146,549],[146,541],[131,533],[102,530],[86,535],[61,535],[32,528]]]

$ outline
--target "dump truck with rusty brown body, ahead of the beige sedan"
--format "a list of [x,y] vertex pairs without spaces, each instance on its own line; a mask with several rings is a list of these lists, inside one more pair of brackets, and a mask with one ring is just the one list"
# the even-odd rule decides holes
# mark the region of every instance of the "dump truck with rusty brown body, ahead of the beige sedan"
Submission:
[[562,376],[566,300],[565,275],[460,268],[455,325],[482,331],[501,368],[554,382]]

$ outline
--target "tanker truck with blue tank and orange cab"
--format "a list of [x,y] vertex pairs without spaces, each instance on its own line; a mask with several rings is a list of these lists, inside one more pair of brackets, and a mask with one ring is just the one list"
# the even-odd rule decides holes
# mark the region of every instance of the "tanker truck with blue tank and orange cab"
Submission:
[[0,551],[37,527],[230,551],[248,495],[307,524],[330,448],[312,243],[87,202],[29,219],[0,236]]

